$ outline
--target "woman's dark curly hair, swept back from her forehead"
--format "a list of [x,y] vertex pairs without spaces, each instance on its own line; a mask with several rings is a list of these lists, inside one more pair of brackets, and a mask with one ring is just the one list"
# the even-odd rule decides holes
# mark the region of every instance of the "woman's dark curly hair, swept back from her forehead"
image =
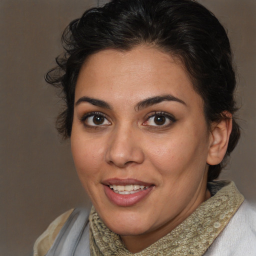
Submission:
[[[63,92],[65,109],[57,119],[63,137],[71,134],[80,67],[90,54],[107,48],[129,50],[148,44],[180,59],[204,101],[208,127],[212,121],[228,118],[225,112],[237,110],[232,53],[225,29],[209,10],[193,0],[112,0],[70,22],[62,44],[65,52],[56,58],[57,67],[45,79]],[[225,157],[239,136],[239,126],[232,118]],[[209,166],[208,180],[218,177],[223,164]]]

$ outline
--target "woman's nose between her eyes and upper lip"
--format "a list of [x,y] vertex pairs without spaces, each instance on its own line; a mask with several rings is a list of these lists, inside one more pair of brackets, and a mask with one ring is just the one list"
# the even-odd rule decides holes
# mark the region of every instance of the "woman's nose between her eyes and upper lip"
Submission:
[[131,128],[119,127],[109,137],[105,160],[120,168],[144,161],[144,153],[138,135]]

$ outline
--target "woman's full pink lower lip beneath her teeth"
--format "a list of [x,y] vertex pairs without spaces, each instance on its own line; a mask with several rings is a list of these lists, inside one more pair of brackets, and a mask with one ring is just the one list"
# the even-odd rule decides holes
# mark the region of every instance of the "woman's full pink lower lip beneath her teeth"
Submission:
[[139,201],[141,201],[148,193],[152,190],[153,185],[149,186],[147,189],[140,190],[132,194],[118,194],[115,193],[109,186],[103,185],[104,191],[107,198],[114,204],[118,206],[132,206]]

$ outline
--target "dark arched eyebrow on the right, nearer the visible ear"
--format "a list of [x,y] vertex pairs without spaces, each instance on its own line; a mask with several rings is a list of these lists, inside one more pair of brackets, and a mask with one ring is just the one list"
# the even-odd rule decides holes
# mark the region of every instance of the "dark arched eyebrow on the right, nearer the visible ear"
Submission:
[[177,98],[171,94],[164,94],[164,95],[149,97],[149,98],[139,101],[135,105],[135,110],[138,111],[141,108],[145,108],[145,107],[160,103],[162,101],[176,101],[176,102],[182,103],[186,106],[186,103],[182,99]]

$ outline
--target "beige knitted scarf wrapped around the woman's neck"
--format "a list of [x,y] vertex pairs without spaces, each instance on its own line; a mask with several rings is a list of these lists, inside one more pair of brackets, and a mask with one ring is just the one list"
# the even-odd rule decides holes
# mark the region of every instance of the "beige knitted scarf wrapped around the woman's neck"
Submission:
[[91,256],[203,255],[226,226],[244,197],[232,181],[208,183],[211,197],[170,233],[137,253],[129,252],[118,234],[108,229],[94,207],[89,215]]

